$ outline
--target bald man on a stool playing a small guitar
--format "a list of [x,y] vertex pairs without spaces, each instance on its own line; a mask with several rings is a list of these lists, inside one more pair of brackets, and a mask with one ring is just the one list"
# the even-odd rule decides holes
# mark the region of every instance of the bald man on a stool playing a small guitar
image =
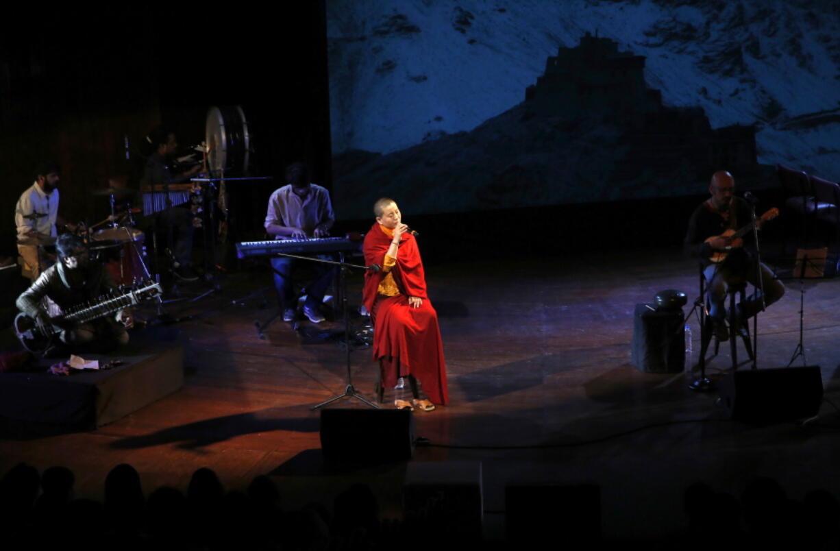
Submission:
[[[759,263],[753,255],[752,235],[744,237],[746,246],[724,236],[727,230],[743,228],[752,222],[750,208],[746,201],[734,197],[735,179],[727,171],[717,171],[711,176],[709,193],[711,197],[696,208],[688,223],[685,234],[685,251],[699,258],[706,277],[706,300],[710,304],[709,315],[719,340],[727,340],[726,298],[729,284],[748,281],[755,286],[755,292],[738,305],[739,326],[749,317],[762,310],[760,289],[764,287],[764,305],[769,306],[785,294],[785,286],[774,279],[773,272]],[[764,218],[764,217],[762,217]],[[759,219],[758,226],[763,223]],[[722,262],[713,262],[716,253],[727,253]],[[760,281],[759,281],[760,274]]]

